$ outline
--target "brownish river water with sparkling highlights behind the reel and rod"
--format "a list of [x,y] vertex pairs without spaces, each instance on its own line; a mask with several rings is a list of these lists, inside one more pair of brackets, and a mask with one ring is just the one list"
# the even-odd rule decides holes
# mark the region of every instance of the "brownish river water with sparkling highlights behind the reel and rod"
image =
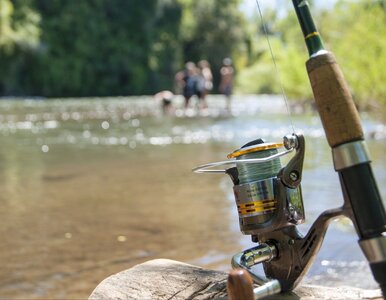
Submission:
[[[280,97],[236,97],[232,116],[224,107],[216,96],[198,116],[162,116],[149,97],[0,101],[0,298],[87,298],[154,258],[229,270],[253,245],[232,184],[191,169],[292,126]],[[386,199],[386,127],[362,117]],[[306,137],[305,232],[342,196],[318,116],[292,122]],[[375,288],[356,240],[347,219],[334,222],[305,282]]]

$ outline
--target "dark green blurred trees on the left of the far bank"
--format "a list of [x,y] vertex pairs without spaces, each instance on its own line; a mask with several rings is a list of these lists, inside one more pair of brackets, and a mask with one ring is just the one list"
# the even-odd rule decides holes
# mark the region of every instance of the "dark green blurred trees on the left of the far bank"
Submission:
[[238,3],[0,0],[0,93],[106,96],[172,89],[185,61],[206,58],[218,66],[235,53],[243,26]]

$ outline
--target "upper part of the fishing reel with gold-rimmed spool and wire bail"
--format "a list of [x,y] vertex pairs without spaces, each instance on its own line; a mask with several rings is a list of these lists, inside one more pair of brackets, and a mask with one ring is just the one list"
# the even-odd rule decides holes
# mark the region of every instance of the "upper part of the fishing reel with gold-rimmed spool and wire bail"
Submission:
[[[299,143],[300,141],[300,143]],[[282,147],[286,151],[279,152]],[[296,150],[282,167],[280,156]],[[211,163],[193,169],[198,173],[226,173],[233,183],[240,230],[254,236],[304,221],[300,180],[304,159],[304,138],[289,135],[283,143],[265,143],[256,139],[228,155],[229,161]],[[226,170],[214,167],[234,164]],[[295,169],[295,171],[294,171]],[[288,177],[288,178],[287,178]]]

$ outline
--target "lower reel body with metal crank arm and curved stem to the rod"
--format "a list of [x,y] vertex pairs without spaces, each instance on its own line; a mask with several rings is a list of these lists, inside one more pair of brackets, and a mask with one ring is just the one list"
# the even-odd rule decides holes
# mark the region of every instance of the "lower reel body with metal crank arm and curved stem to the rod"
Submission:
[[[261,285],[259,287],[261,295],[290,291],[311,267],[330,222],[347,213],[345,207],[323,212],[304,237],[295,226],[259,235],[259,245],[235,254],[232,266],[248,271],[253,281]],[[267,277],[257,274],[252,269],[260,263],[263,264]]]

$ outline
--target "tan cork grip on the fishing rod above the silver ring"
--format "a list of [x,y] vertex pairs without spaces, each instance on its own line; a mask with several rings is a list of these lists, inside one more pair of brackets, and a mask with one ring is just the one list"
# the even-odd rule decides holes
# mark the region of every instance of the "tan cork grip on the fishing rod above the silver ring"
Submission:
[[307,71],[330,146],[363,139],[358,111],[334,55],[310,58]]

